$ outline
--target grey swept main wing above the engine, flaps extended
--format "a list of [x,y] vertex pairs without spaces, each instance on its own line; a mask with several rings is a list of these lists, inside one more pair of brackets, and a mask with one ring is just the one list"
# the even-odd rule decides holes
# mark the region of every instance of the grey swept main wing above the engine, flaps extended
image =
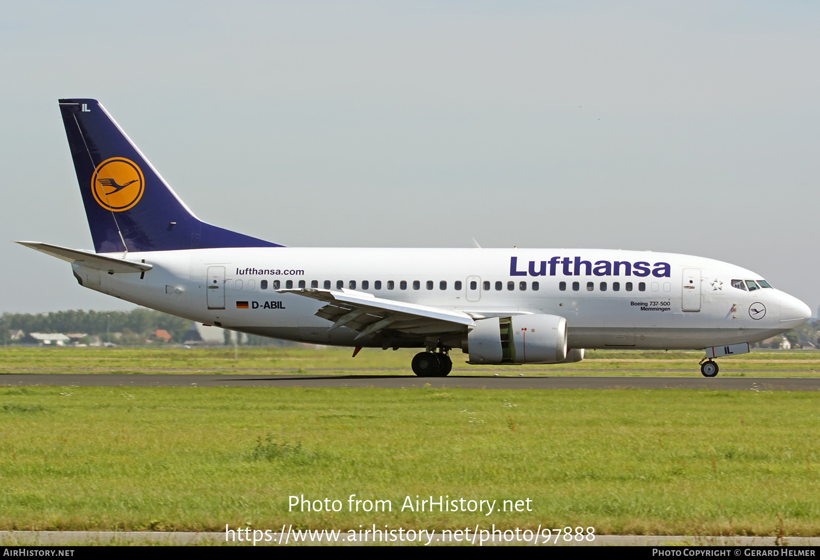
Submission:
[[470,315],[461,311],[382,300],[362,291],[332,291],[318,288],[276,291],[325,301],[327,305],[316,312],[317,317],[333,321],[330,330],[345,326],[359,331],[357,340],[384,328],[416,334],[434,334],[458,332],[464,327],[476,325]]

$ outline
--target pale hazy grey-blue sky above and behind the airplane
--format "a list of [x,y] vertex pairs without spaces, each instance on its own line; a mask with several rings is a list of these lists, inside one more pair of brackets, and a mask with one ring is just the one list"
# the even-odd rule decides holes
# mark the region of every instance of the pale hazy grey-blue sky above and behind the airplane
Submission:
[[255,237],[669,251],[818,309],[818,24],[795,0],[6,2],[0,312],[133,307],[11,242],[92,247],[60,97]]

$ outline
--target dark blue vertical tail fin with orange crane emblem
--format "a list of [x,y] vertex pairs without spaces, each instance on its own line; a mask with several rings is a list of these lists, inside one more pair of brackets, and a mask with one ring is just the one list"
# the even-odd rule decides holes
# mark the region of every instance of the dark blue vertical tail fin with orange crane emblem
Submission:
[[194,216],[97,101],[60,112],[98,253],[280,246]]

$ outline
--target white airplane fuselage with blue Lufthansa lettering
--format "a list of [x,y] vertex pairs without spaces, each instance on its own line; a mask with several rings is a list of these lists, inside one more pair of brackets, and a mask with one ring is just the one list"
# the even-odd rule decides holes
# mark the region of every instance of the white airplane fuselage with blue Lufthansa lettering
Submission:
[[[138,305],[239,332],[330,345],[381,344],[369,338],[354,343],[357,333],[345,327],[329,333],[332,323],[315,315],[321,301],[277,293],[276,287],[336,290],[342,282],[345,289],[476,319],[559,315],[567,319],[569,347],[586,349],[699,350],[762,341],[810,316],[803,302],[775,288],[733,287],[732,280],[761,279],[747,269],[649,251],[273,247],[126,258],[153,269],[108,274],[73,267],[85,287]],[[394,344],[421,346],[422,338]]]

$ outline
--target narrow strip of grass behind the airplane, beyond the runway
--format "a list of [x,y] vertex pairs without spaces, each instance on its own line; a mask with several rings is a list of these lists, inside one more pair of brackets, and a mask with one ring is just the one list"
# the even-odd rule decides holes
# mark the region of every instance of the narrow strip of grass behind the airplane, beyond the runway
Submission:
[[[417,350],[364,349],[356,358],[351,350],[240,346],[216,348],[26,348],[0,347],[0,373],[332,373],[373,371],[408,375]],[[591,350],[576,364],[533,366],[474,366],[467,355],[453,350],[453,374],[486,375],[529,372],[530,375],[695,375],[702,352]],[[817,377],[817,350],[754,350],[747,355],[718,359],[722,377]],[[464,371],[472,370],[472,371]]]

